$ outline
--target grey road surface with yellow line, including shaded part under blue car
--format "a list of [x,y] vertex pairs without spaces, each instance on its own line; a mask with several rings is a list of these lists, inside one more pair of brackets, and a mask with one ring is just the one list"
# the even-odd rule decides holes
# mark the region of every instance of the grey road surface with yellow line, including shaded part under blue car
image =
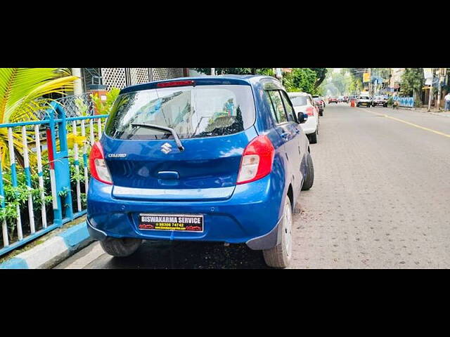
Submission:
[[[295,216],[293,268],[450,267],[450,118],[327,105],[315,181]],[[113,258],[91,244],[57,268],[264,268],[245,245],[146,242]]]

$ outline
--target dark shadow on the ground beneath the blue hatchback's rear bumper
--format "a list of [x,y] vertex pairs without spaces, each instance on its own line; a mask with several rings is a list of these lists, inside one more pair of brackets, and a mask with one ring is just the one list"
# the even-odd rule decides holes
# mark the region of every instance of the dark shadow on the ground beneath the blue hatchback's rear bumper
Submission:
[[262,251],[252,251],[245,244],[146,241],[132,256],[108,258],[102,268],[267,268]]

